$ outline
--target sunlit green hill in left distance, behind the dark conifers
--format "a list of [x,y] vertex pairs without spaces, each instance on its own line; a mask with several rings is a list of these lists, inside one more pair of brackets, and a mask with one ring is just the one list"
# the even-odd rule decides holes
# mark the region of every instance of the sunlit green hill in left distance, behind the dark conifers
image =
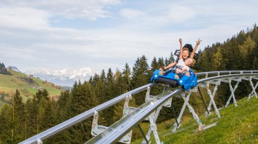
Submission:
[[3,75],[0,73],[0,109],[3,105],[2,102],[8,101],[10,99],[10,95],[12,95],[16,89],[21,92],[23,101],[26,101],[29,97],[35,95],[39,88],[46,88],[50,97],[60,95],[61,89],[55,88],[54,84],[51,84],[50,82],[43,82],[37,77],[30,78],[28,75],[17,71],[9,71],[12,75]]

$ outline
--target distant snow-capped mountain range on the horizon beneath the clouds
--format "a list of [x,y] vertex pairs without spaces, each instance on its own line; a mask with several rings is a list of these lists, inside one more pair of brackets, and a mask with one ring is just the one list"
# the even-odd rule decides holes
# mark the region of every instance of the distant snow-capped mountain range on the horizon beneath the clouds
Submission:
[[94,73],[92,69],[86,67],[81,69],[61,69],[55,71],[49,71],[44,68],[32,69],[25,72],[28,75],[33,75],[34,77],[39,77],[42,80],[47,80],[59,86],[72,86],[75,81],[81,80],[84,82],[88,80]]

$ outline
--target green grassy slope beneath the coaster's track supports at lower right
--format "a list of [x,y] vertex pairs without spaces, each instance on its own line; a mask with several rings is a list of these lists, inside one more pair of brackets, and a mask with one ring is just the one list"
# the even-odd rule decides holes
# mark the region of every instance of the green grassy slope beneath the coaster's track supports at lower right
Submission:
[[[202,132],[195,132],[198,125],[192,119],[192,115],[183,116],[182,125],[179,128],[186,128],[181,132],[170,133],[174,119],[158,124],[159,138],[164,143],[258,143],[258,99],[252,97],[237,102],[238,106],[231,104],[228,108],[220,110],[221,119],[216,119],[215,112],[209,117],[199,114],[201,122],[208,125],[217,122],[212,128]],[[188,109],[186,109],[188,110]],[[141,127],[146,134],[148,123],[141,123]],[[139,133],[135,129],[136,133]],[[138,134],[141,135],[140,133]],[[138,139],[133,143],[141,143],[143,139]],[[152,143],[155,143],[152,135]]]

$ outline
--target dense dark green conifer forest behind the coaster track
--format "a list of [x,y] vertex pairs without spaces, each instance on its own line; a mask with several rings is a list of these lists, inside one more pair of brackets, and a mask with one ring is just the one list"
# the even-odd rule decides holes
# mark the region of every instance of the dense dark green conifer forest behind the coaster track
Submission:
[[[253,25],[251,29],[242,30],[224,43],[215,43],[200,49],[198,55],[197,63],[193,67],[195,72],[257,70],[257,25]],[[155,69],[174,61],[175,58],[171,52],[169,58],[153,58],[149,65],[146,56],[143,55],[137,58],[132,69],[125,64],[122,71],[119,69],[116,71],[103,70],[100,75],[95,73],[87,82],[75,82],[72,90],[62,91],[57,100],[50,99],[48,91],[39,90],[34,98],[23,103],[20,92],[15,91],[10,104],[3,106],[0,112],[0,143],[19,143],[114,97],[148,84]],[[235,92],[237,99],[241,99],[251,92],[248,82],[240,84],[241,86]],[[152,88],[151,95],[158,95],[162,89],[161,86],[155,86]],[[145,95],[146,92],[133,95],[130,106],[136,107],[143,104]],[[224,106],[229,96],[228,84],[221,84],[217,96],[215,96],[217,106]],[[208,96],[204,95],[204,97],[208,101]],[[109,126],[120,119],[123,103],[124,101],[121,101],[121,103],[99,112],[99,124]],[[178,115],[183,100],[175,98],[173,104]],[[204,111],[201,99],[197,94],[195,98],[190,99],[190,104],[195,107],[197,112]],[[186,115],[188,114],[186,113]],[[171,118],[173,118],[172,109],[163,108],[157,122],[161,123]],[[88,119],[52,136],[43,143],[85,143],[92,137],[90,135],[91,124],[92,119]],[[136,134],[132,137],[134,138],[134,136]]]

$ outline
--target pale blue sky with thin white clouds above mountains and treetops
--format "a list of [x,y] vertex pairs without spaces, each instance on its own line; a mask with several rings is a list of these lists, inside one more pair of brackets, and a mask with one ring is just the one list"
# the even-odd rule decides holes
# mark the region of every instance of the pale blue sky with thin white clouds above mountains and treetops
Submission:
[[258,1],[23,0],[0,2],[0,62],[21,71],[122,70],[183,43],[224,42],[258,21]]

